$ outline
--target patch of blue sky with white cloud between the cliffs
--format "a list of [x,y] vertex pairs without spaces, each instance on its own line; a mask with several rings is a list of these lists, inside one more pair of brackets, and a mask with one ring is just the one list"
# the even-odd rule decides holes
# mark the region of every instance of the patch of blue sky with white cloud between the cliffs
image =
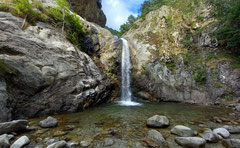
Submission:
[[107,16],[107,26],[119,30],[129,15],[138,15],[144,0],[102,0],[103,11]]

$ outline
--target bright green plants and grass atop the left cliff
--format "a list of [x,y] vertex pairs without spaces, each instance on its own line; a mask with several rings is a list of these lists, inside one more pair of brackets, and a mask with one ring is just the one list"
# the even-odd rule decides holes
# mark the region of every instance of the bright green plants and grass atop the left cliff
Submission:
[[10,12],[14,16],[22,17],[26,22],[23,28],[29,24],[35,25],[38,21],[49,22],[62,32],[66,32],[67,39],[81,49],[82,38],[85,35],[83,26],[77,14],[70,11],[70,6],[65,0],[57,0],[57,7],[44,8],[37,0],[30,3],[29,0],[15,0],[11,4],[0,4],[0,11]]

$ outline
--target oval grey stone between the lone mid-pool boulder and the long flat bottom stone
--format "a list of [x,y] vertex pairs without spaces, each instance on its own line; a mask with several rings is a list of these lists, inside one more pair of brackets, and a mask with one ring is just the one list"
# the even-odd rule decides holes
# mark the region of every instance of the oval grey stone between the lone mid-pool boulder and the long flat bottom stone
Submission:
[[191,128],[183,125],[176,125],[171,129],[171,133],[181,137],[191,137],[196,135],[196,133]]

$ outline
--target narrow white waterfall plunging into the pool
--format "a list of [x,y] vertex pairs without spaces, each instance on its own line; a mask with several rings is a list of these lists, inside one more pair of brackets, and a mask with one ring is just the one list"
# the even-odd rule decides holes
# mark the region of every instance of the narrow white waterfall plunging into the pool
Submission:
[[122,46],[122,93],[121,93],[121,105],[135,106],[140,105],[139,103],[132,101],[131,92],[131,61],[128,41],[121,38],[123,42]]

